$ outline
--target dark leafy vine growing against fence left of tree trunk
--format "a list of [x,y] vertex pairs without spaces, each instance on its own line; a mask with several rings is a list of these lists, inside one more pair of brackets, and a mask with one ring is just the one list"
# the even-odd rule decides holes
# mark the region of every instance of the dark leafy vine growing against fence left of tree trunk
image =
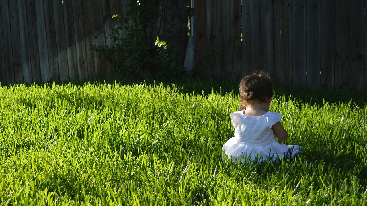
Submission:
[[[146,35],[146,7],[144,1],[132,2],[128,5],[126,18],[119,14],[113,15],[117,21],[123,21],[123,26],[114,25],[110,33],[93,35],[98,38],[104,35],[111,40],[111,45],[96,45],[99,58],[106,60],[110,66],[121,74],[133,78],[175,78],[181,76],[184,69],[179,65],[177,58],[171,55],[168,49],[170,44],[160,41],[159,37],[152,40]],[[159,52],[156,54],[153,44]]]

